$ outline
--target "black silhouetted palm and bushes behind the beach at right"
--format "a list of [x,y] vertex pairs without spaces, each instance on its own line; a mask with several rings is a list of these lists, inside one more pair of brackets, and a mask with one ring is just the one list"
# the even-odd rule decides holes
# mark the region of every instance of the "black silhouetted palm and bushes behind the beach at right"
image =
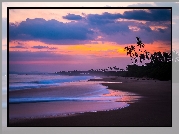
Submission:
[[[124,50],[127,51],[127,55],[131,57],[132,63],[134,63],[134,65],[128,65],[126,67],[126,70],[128,70],[126,76],[151,77],[160,80],[171,79],[171,53],[162,53],[159,51],[150,54],[149,52],[147,52],[147,50],[142,51],[145,45],[144,43],[142,43],[141,39],[139,37],[136,37],[136,40],[137,46],[131,45],[124,48]],[[137,47],[139,47],[138,52],[136,51]],[[175,58],[175,61],[176,59],[178,58]],[[145,60],[149,60],[149,63],[145,63],[145,66],[138,66],[136,65],[138,60],[140,60],[140,63],[143,63],[143,61]]]

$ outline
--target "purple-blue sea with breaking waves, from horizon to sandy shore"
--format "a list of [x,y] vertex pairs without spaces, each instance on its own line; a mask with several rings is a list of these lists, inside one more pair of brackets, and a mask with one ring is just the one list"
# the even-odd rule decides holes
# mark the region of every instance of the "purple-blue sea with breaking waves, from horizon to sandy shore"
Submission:
[[[90,79],[98,81],[89,81]],[[127,93],[109,89],[102,83],[111,82],[102,81],[99,76],[9,74],[9,117],[70,116],[117,110],[130,105],[120,101],[124,100]]]

